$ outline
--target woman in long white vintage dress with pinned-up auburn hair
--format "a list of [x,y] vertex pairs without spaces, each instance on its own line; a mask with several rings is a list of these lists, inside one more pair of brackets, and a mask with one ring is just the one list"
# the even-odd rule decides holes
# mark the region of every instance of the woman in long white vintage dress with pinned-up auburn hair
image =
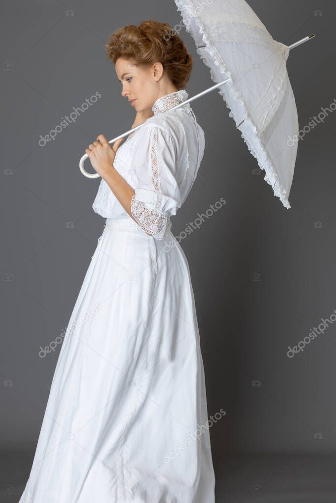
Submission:
[[188,264],[170,216],[204,152],[192,58],[171,27],[111,35],[122,96],[144,122],[88,153],[105,228],[60,350],[19,503],[214,503],[204,367]]

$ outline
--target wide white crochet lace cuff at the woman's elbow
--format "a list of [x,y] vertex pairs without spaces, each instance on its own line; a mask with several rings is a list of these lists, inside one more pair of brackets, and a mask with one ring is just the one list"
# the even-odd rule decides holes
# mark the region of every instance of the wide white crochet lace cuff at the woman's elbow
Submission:
[[131,199],[130,208],[133,217],[147,234],[156,239],[163,239],[167,226],[169,229],[171,227],[169,216],[161,215],[148,208],[142,201],[138,201],[135,195]]

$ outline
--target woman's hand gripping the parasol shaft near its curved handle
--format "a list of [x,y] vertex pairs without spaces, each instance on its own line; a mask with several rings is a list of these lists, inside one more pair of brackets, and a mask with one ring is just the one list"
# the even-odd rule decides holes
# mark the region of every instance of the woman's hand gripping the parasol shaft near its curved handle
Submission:
[[85,152],[88,154],[92,167],[98,175],[102,178],[114,169],[113,161],[115,157],[115,153],[119,148],[120,143],[123,138],[117,140],[113,143],[113,147],[109,144],[107,139],[103,134],[97,136],[97,140],[93,143],[90,143],[89,148],[85,149]]

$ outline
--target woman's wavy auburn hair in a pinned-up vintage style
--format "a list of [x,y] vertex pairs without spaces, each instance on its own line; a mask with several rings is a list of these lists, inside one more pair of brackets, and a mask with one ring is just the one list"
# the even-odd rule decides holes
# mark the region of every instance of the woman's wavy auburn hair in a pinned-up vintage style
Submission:
[[184,89],[189,80],[192,56],[168,23],[143,21],[139,26],[123,26],[112,33],[105,47],[114,64],[118,58],[141,68],[160,62],[178,90]]

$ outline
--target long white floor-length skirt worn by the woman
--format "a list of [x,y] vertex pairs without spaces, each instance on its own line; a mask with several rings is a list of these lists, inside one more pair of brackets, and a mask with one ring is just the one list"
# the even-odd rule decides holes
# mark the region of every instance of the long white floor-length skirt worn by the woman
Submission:
[[207,422],[183,250],[106,219],[19,503],[214,503]]

